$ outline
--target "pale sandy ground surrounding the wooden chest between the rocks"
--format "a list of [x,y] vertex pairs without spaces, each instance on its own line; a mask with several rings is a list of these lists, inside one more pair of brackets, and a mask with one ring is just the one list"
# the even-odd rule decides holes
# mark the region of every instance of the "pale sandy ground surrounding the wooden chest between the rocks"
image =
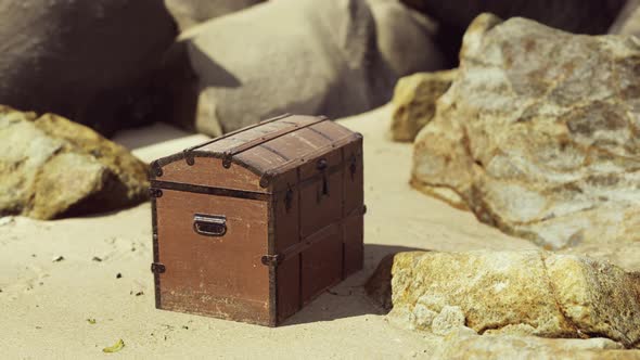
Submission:
[[[361,285],[377,261],[411,248],[534,245],[412,190],[408,185],[411,145],[387,140],[388,119],[389,108],[382,107],[342,120],[364,136],[366,269],[283,326],[156,310],[149,270],[149,203],[57,221],[0,218],[0,358],[428,357],[437,337],[393,327],[364,295]],[[152,160],[205,139],[156,125],[123,133],[116,141]],[[102,352],[118,338],[126,344],[121,351]]]

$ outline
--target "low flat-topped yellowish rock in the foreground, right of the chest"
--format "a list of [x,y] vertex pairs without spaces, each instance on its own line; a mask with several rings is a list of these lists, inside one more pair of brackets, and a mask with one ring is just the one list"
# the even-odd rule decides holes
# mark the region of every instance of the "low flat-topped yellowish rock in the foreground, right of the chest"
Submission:
[[640,273],[609,262],[539,250],[399,253],[393,262],[388,317],[402,327],[640,347]]

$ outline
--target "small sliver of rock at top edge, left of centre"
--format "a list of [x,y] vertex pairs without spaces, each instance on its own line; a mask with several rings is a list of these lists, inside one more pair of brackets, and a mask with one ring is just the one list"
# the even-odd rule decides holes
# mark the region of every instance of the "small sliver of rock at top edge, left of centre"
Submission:
[[185,30],[207,20],[246,9],[264,0],[165,0],[167,9]]

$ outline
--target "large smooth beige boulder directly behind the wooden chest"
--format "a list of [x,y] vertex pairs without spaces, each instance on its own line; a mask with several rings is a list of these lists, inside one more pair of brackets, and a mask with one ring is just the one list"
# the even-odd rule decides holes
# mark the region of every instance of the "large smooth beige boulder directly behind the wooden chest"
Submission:
[[[440,66],[431,27],[408,21],[419,16],[409,12],[364,0],[280,0],[194,27],[179,46],[196,75],[197,101],[178,99],[175,107],[185,110],[175,121],[195,114],[197,131],[218,136],[281,113],[336,118],[381,105],[402,72]],[[189,81],[179,87],[192,91]]]

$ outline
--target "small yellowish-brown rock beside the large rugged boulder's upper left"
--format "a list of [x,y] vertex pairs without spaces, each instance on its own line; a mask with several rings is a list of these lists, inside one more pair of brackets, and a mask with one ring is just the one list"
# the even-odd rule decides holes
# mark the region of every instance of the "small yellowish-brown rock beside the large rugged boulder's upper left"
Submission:
[[413,141],[435,115],[436,100],[443,95],[457,70],[418,73],[398,80],[394,91],[392,139]]

